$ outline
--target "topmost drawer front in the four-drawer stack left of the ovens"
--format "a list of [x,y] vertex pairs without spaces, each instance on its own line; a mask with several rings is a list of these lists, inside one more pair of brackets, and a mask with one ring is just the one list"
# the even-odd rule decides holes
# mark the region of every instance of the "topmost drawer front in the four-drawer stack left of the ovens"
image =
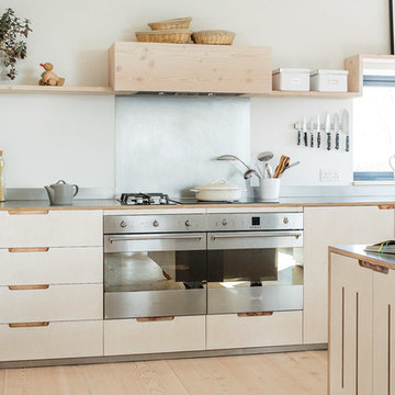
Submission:
[[99,210],[10,213],[0,212],[0,247],[102,246],[102,212]]

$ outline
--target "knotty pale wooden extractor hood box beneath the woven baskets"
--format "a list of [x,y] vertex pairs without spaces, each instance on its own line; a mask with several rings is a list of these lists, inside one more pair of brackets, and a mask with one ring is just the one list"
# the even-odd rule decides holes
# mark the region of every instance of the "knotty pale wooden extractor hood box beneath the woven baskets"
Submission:
[[117,94],[271,92],[271,48],[117,42],[110,83]]

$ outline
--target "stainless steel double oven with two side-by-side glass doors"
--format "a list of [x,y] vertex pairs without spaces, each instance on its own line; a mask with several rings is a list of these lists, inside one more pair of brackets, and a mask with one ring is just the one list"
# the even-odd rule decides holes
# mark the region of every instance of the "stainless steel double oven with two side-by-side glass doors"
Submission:
[[106,319],[298,309],[302,213],[104,217]]

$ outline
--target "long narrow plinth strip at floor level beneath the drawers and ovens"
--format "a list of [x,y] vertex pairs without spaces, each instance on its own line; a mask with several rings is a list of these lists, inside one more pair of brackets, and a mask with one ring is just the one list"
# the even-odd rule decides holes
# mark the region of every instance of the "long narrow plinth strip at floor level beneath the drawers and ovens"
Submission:
[[258,347],[245,349],[228,350],[203,350],[203,351],[183,351],[183,352],[165,352],[151,354],[133,354],[133,356],[111,356],[111,357],[89,357],[89,358],[67,358],[52,360],[34,360],[34,361],[12,361],[0,362],[0,369],[18,369],[18,368],[38,368],[38,366],[63,366],[63,365],[80,365],[97,363],[114,363],[114,362],[138,362],[138,361],[157,361],[171,360],[181,358],[210,358],[210,357],[232,357],[232,356],[251,356],[259,353],[274,352],[296,352],[312,350],[327,350],[327,343],[307,345],[307,346],[276,346],[276,347]]

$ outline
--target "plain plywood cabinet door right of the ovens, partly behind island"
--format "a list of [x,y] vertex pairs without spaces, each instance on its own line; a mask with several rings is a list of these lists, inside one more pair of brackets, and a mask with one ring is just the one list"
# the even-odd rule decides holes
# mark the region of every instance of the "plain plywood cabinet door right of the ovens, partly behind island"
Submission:
[[328,246],[394,238],[394,210],[379,206],[304,211],[304,343],[328,341]]

